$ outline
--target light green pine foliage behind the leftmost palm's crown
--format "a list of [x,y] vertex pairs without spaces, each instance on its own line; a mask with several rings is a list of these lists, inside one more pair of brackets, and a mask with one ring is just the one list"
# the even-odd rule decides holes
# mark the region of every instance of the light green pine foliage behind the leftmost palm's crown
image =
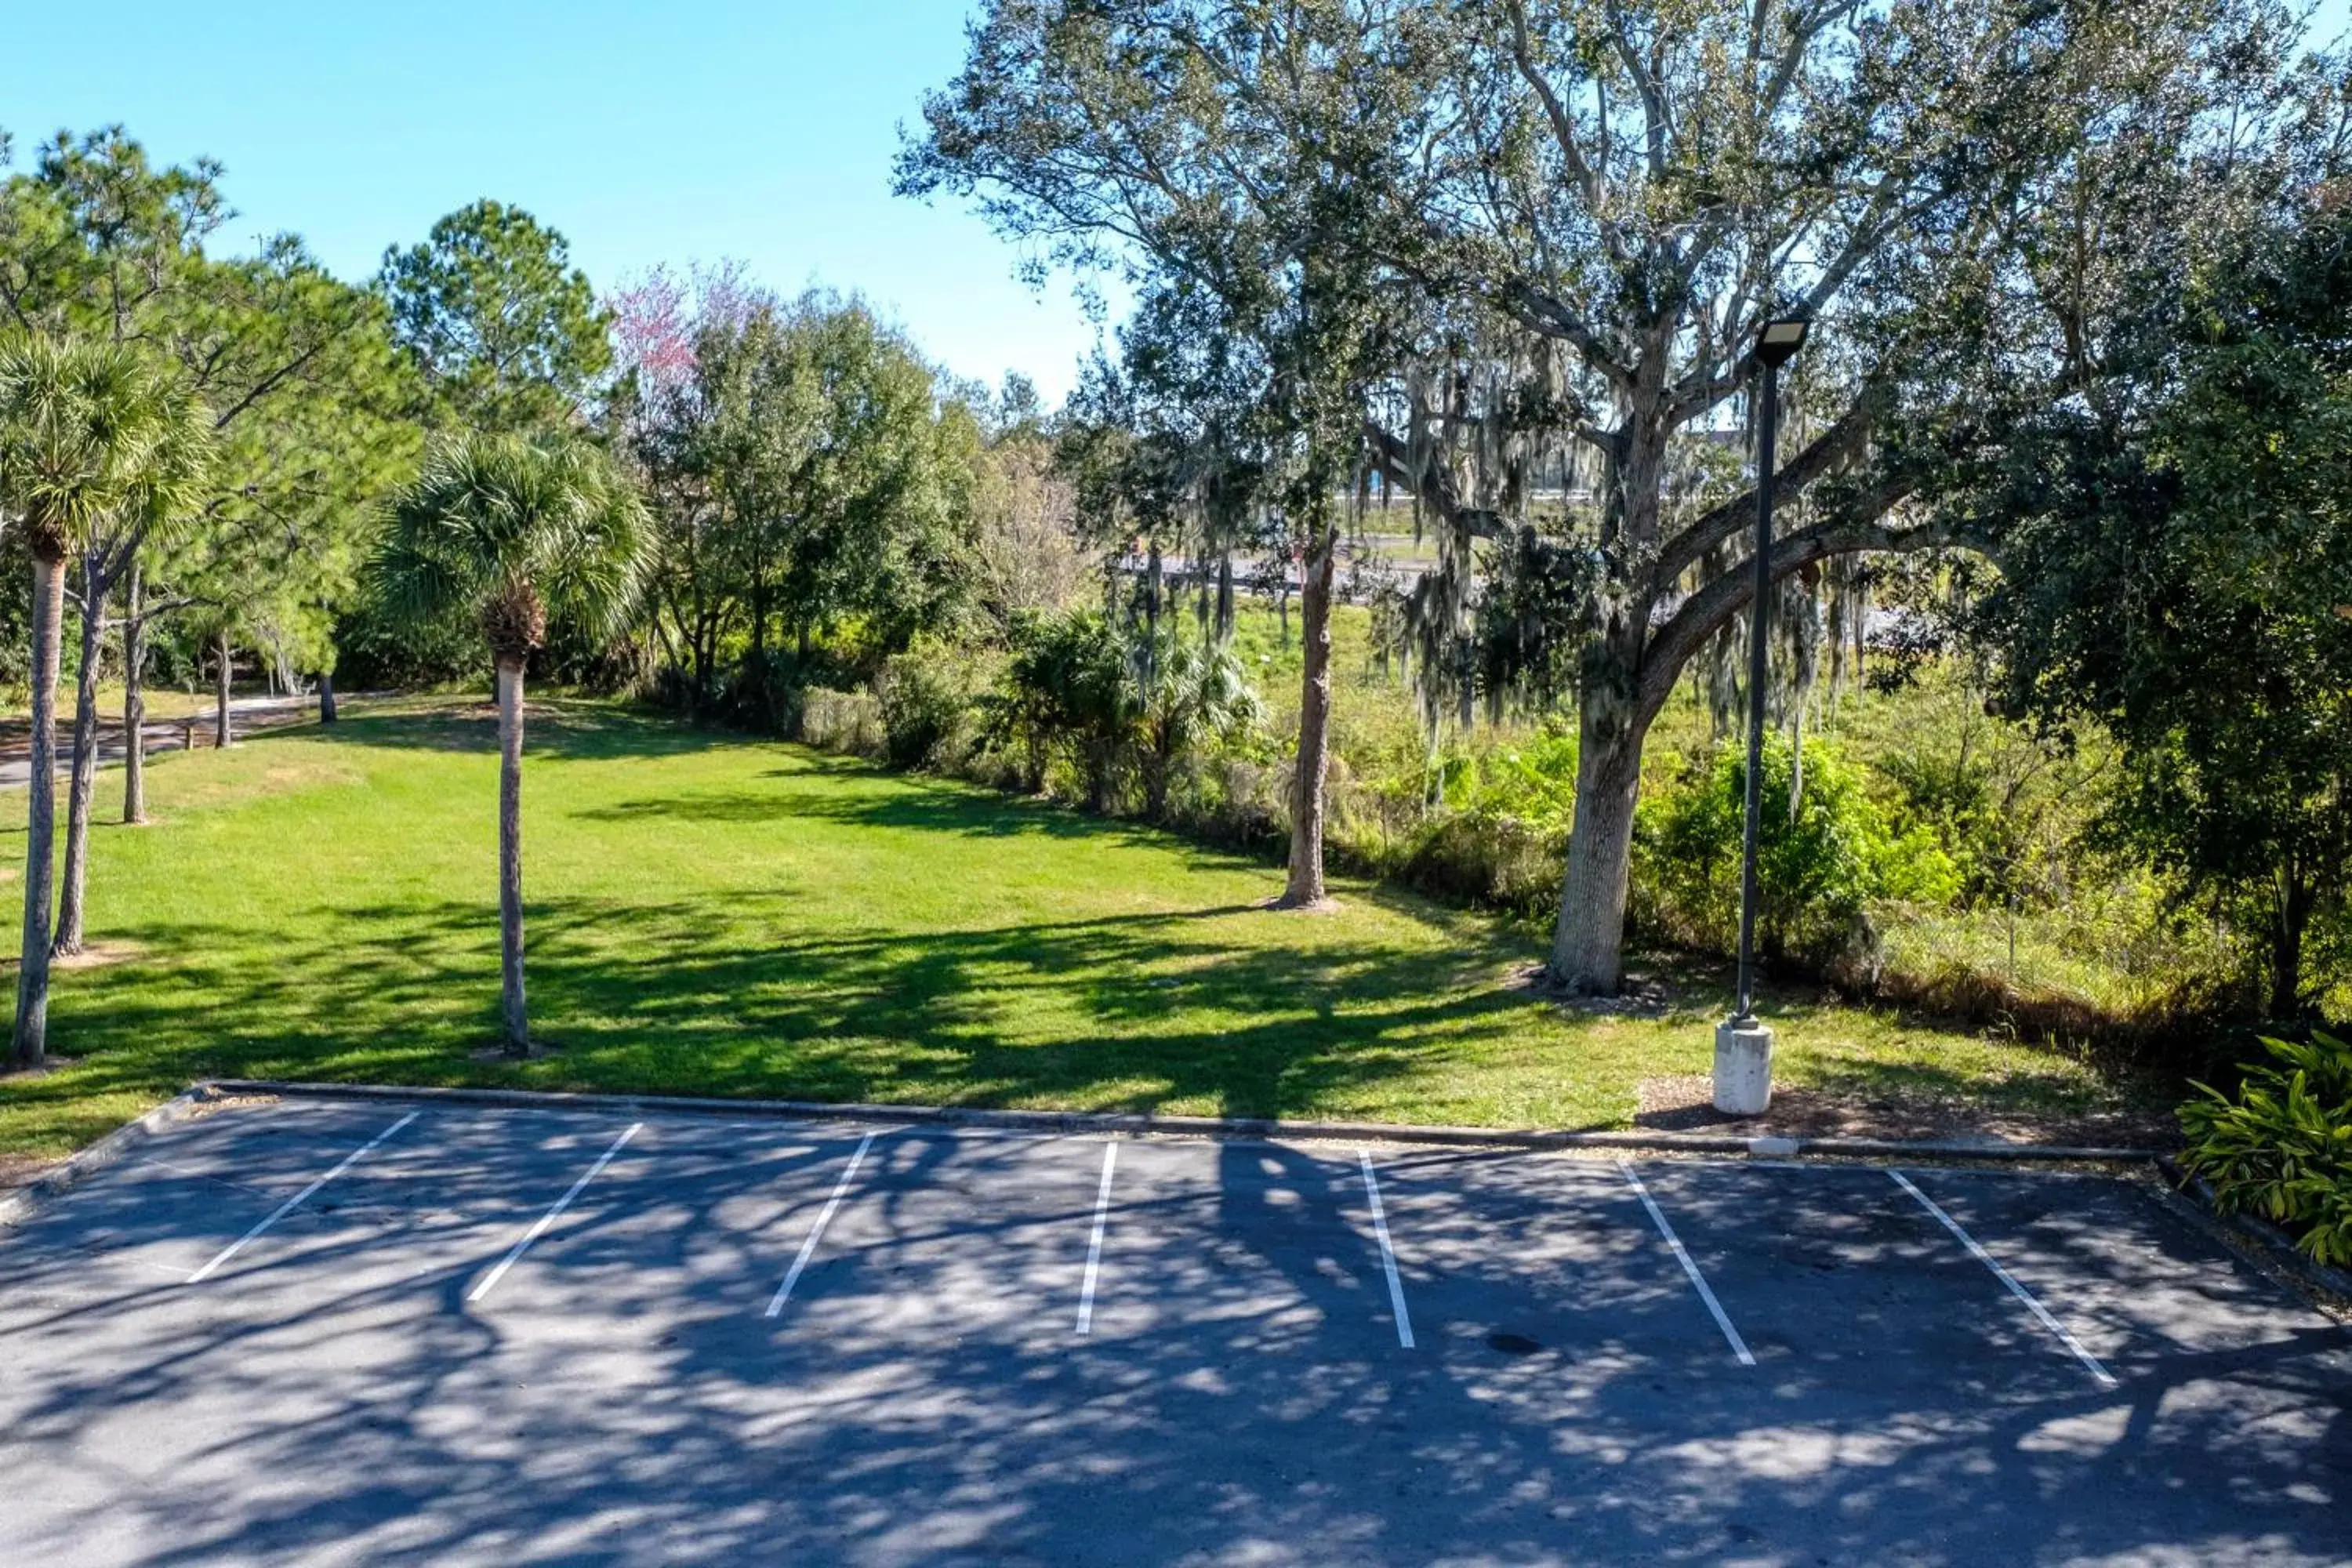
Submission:
[[59,134],[0,186],[0,317],[122,343],[209,409],[212,482],[151,491],[99,529],[101,581],[136,548],[148,604],[332,668],[362,524],[416,461],[419,390],[383,303],[292,235],[205,254],[228,216],[219,176],[209,160],[158,167],[120,127]]

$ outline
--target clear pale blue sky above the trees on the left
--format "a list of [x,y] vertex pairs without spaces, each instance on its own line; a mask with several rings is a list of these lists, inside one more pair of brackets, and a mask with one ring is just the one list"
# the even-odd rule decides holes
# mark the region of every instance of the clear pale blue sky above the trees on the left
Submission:
[[534,212],[609,289],[736,256],[858,289],[948,369],[1073,381],[1096,329],[955,202],[891,197],[898,125],[962,61],[967,0],[118,0],[7,5],[0,127],[122,122],[209,153],[240,216],[369,277],[475,197]]

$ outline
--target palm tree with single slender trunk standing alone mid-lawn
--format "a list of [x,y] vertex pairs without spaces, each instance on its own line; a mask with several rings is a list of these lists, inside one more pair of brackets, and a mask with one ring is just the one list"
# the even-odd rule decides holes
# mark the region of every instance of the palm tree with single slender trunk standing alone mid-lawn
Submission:
[[522,1006],[522,670],[560,616],[609,635],[635,604],[644,505],[579,440],[463,435],[426,458],[374,562],[414,623],[473,614],[499,668],[499,969],[506,1051],[529,1056]]

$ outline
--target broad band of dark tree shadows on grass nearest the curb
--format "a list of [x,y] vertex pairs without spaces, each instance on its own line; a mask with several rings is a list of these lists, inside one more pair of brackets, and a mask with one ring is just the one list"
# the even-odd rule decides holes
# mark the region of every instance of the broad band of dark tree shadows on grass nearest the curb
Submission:
[[[477,1065],[492,1034],[487,907],[329,910],[270,961],[249,933],[141,926],[167,966],[61,999],[85,1067],[28,1095],[202,1074],[534,1081],[816,1100],[1075,1103],[1301,1112],[1442,1072],[1458,1034],[1529,1004],[1456,954],[1383,943],[1265,947],[1216,933],[1247,907],[1007,929],[793,936],[790,900],[557,900],[529,910],[546,1063]],[[764,933],[764,936],[762,936]],[[16,1098],[16,1095],[12,1095]]]

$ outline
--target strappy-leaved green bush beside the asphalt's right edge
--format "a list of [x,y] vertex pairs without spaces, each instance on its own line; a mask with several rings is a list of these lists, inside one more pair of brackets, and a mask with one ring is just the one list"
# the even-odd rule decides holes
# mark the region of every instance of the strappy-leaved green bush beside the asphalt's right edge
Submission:
[[2237,1095],[2197,1084],[2180,1107],[2180,1164],[2213,1185],[2223,1213],[2258,1213],[2319,1262],[2352,1262],[2352,1046],[2265,1039]]

